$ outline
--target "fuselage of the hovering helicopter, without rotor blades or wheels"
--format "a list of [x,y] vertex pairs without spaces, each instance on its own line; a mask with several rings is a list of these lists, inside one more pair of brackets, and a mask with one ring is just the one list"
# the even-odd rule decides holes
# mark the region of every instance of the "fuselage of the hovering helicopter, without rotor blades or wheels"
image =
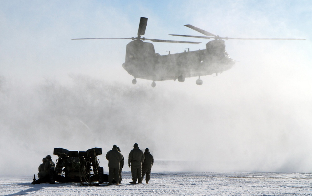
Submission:
[[159,55],[154,45],[141,40],[129,42],[123,68],[134,78],[152,81],[206,76],[232,68],[235,61],[225,51],[223,40],[212,40],[206,49]]

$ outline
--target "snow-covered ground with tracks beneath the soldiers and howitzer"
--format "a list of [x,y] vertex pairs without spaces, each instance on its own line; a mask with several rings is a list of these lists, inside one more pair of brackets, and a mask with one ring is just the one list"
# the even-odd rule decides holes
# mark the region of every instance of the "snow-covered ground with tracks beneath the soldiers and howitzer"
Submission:
[[149,184],[129,184],[130,172],[111,186],[32,185],[32,175],[1,177],[1,195],[312,195],[311,173],[152,173]]

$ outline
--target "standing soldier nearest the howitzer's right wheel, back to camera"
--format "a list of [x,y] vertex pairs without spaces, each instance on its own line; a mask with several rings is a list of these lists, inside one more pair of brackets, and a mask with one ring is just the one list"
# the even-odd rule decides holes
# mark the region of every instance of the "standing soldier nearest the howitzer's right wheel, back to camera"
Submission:
[[106,159],[108,160],[108,184],[111,185],[113,182],[113,177],[115,177],[116,184],[119,184],[119,167],[120,161],[123,156],[117,150],[117,145],[113,145],[113,149],[107,152]]

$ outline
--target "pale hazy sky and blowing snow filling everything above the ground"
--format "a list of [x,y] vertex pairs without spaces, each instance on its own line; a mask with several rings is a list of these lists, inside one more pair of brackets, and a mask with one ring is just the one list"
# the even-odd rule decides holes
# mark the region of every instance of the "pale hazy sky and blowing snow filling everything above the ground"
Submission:
[[[1,1],[1,174],[37,174],[58,147],[116,144],[127,160],[134,143],[150,149],[154,172],[311,172],[311,13],[310,1]],[[201,35],[185,24],[307,40],[227,40],[231,70],[155,88],[123,70],[129,40],[70,40],[133,37],[140,17],[144,37],[202,42],[153,43],[161,55],[205,48],[168,35]]]

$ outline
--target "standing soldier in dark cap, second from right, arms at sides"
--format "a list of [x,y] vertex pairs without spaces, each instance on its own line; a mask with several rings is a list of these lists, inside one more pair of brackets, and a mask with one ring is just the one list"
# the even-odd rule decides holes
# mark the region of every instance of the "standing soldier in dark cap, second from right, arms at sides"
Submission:
[[132,182],[130,184],[142,183],[142,163],[144,162],[144,153],[139,149],[139,145],[135,143],[133,149],[129,153],[128,165],[131,166]]

